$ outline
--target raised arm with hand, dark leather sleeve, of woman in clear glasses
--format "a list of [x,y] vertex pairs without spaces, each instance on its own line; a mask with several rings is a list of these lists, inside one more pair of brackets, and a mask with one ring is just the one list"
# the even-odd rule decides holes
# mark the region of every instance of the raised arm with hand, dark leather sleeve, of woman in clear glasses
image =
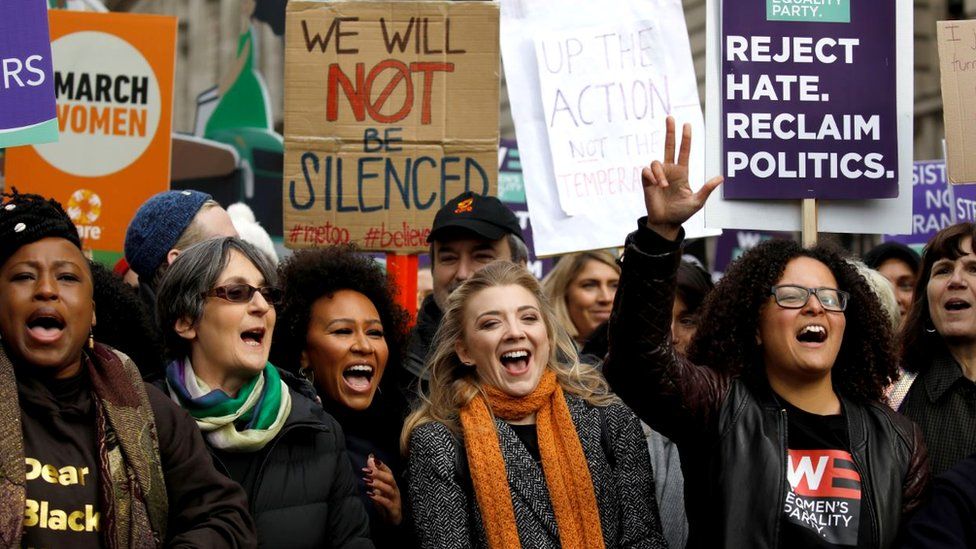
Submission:
[[679,444],[714,427],[728,388],[728,379],[677,356],[671,346],[681,224],[722,182],[717,177],[692,192],[690,151],[691,126],[686,124],[675,161],[674,119],[668,117],[664,162],[654,161],[641,174],[647,217],[627,237],[603,368],[614,392],[645,423]]

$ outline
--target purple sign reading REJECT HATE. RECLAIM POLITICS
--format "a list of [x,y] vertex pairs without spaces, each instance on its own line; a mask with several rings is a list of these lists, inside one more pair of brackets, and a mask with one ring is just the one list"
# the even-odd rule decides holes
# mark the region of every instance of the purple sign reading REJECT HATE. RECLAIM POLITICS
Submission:
[[895,4],[723,2],[725,198],[898,196]]

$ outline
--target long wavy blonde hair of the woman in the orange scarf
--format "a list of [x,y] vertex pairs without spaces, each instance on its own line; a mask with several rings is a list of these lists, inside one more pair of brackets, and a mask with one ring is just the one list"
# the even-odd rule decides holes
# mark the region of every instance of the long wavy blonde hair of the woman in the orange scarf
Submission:
[[552,306],[542,292],[539,281],[521,265],[496,261],[475,273],[448,297],[444,318],[434,335],[434,353],[428,362],[430,382],[427,390],[420,395],[419,406],[404,422],[400,435],[400,449],[404,455],[409,449],[410,435],[417,427],[436,421],[460,434],[459,410],[478,395],[487,400],[476,369],[461,363],[454,351],[454,344],[465,335],[467,304],[482,290],[496,286],[521,286],[539,301],[549,335],[550,352],[546,367],[555,372],[563,391],[593,406],[607,406],[617,401],[603,376],[592,367],[580,363],[576,346],[569,334],[558,327]]

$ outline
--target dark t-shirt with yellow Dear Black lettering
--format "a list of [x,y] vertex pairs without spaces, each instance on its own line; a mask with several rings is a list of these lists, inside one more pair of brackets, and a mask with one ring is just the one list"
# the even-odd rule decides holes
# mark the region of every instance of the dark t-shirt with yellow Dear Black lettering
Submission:
[[27,507],[22,547],[101,547],[95,405],[84,368],[67,380],[17,371]]

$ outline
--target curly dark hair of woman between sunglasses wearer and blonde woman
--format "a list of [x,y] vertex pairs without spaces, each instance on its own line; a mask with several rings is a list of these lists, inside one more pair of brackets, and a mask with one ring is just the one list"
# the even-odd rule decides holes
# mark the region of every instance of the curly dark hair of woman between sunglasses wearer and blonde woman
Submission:
[[[386,345],[390,350],[387,371],[400,365],[407,338],[409,316],[395,301],[383,268],[352,245],[302,250],[278,268],[284,297],[277,307],[271,361],[275,366],[298,372],[305,349],[312,305],[339,290],[353,290],[369,298],[380,314]],[[388,386],[395,374],[384,375],[381,387]]]

